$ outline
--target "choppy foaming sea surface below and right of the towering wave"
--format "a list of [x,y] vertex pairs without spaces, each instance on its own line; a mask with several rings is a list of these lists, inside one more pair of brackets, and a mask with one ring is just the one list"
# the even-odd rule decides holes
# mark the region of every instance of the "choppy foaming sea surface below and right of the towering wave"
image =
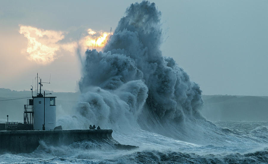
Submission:
[[268,122],[213,123],[222,130],[217,138],[227,136],[228,140],[197,144],[132,129],[115,131],[112,136],[138,149],[118,150],[113,140],[85,140],[59,147],[40,142],[29,154],[1,154],[0,163],[268,163]]

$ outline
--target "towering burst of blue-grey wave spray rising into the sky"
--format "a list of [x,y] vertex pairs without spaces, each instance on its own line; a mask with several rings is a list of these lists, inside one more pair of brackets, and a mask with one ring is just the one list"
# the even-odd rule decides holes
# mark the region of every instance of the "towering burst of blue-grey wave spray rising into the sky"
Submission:
[[147,114],[160,124],[202,118],[199,86],[160,51],[160,17],[154,3],[131,4],[103,51],[85,52],[77,108],[85,120],[127,129],[137,126],[137,120],[150,126],[144,123]]

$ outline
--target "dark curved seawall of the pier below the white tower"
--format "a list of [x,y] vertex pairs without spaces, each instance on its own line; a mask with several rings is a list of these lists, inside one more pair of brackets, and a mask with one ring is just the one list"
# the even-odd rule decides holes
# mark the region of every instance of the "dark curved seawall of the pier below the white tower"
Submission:
[[86,139],[111,139],[112,132],[111,129],[0,131],[0,153],[30,153],[39,146],[39,140],[52,145],[69,145]]

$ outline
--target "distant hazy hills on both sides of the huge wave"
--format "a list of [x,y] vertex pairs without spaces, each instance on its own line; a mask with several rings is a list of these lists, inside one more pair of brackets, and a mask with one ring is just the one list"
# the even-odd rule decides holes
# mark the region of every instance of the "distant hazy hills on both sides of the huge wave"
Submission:
[[[75,115],[77,100],[80,93],[53,92],[57,96],[57,118],[64,115]],[[35,94],[35,93],[34,93]],[[0,100],[31,97],[31,91],[12,91],[0,88]],[[268,121],[268,96],[232,96],[232,95],[202,95],[205,102],[201,113],[207,120],[246,120]],[[27,99],[0,101],[0,122],[9,115],[10,121],[23,121],[24,104]]]

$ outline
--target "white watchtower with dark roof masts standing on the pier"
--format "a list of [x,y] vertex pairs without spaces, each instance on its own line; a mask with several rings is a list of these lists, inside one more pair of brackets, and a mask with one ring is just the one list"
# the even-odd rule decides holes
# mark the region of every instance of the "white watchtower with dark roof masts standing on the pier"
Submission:
[[[44,83],[44,82],[43,82]],[[45,125],[45,130],[53,130],[56,127],[56,102],[53,96],[41,93],[41,83],[40,79],[40,93],[33,98],[33,129],[43,130],[43,124]]]

